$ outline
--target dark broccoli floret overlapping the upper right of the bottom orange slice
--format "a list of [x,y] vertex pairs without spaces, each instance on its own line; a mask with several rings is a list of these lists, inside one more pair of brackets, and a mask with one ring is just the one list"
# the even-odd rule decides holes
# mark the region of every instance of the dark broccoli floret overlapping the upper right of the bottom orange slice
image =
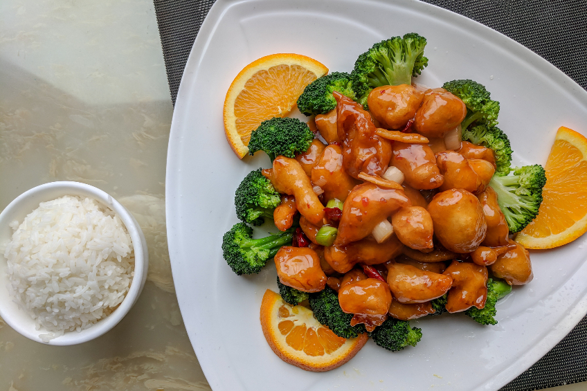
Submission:
[[311,293],[309,302],[311,310],[314,311],[314,318],[337,336],[355,338],[367,332],[362,323],[356,326],[350,325],[353,315],[343,312],[341,304],[338,304],[338,293],[334,289],[325,287],[323,291]]

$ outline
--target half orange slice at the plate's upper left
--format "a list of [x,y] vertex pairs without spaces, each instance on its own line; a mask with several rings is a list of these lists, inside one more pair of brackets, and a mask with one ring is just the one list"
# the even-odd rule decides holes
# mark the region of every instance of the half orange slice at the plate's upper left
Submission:
[[273,117],[285,117],[305,87],[328,73],[305,55],[280,53],[261,57],[237,75],[224,100],[224,131],[239,158],[249,152],[251,131]]

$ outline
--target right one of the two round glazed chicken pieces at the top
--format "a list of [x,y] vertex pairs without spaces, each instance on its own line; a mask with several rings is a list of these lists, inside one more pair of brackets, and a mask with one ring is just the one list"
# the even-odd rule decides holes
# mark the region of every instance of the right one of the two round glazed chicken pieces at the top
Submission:
[[467,116],[467,106],[445,89],[429,89],[416,112],[414,127],[426,137],[444,137]]

